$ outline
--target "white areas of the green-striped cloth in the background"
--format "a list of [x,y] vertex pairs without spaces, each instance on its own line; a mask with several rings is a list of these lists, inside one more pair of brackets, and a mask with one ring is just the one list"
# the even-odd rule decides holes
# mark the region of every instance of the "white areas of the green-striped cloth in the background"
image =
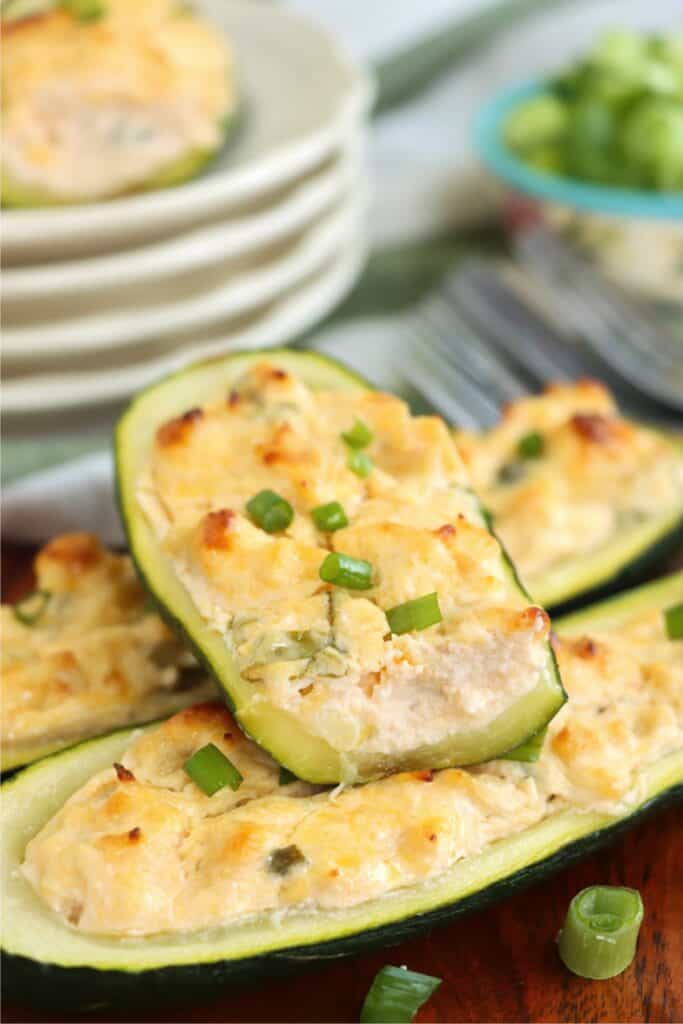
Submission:
[[[291,0],[327,24],[360,59],[402,49],[439,25],[484,9],[494,0]],[[583,0],[552,7],[497,34],[410,102],[374,125],[371,168],[376,245],[426,238],[480,216],[488,204],[476,174],[470,126],[477,108],[506,85],[561,67],[596,33],[614,26],[681,28],[682,0]],[[474,173],[473,173],[474,171]],[[318,347],[392,387],[390,324],[353,321],[322,332]],[[369,366],[368,353],[374,353]],[[389,376],[387,376],[387,370]],[[92,529],[121,543],[111,458],[89,456],[5,488],[4,536],[40,542],[63,529]]]

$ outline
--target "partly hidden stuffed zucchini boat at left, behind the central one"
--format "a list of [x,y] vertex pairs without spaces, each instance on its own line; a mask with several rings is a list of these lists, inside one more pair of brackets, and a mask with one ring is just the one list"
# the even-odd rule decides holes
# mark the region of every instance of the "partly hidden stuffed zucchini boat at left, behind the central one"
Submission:
[[36,590],[0,612],[3,771],[215,694],[129,558],[67,534],[35,571]]

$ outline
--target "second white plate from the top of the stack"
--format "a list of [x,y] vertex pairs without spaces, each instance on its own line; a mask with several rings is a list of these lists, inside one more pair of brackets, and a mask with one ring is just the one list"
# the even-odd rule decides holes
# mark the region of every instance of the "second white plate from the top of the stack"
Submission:
[[5,315],[11,307],[50,297],[138,286],[147,281],[186,274],[191,270],[257,252],[292,238],[329,210],[350,187],[358,173],[358,140],[313,174],[297,180],[282,200],[256,213],[193,228],[152,245],[88,259],[9,267],[2,275]]

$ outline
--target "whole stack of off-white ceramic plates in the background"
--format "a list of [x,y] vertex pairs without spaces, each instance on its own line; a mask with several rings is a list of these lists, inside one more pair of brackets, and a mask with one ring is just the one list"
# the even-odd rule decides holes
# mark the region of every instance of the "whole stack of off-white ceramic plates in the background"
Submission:
[[3,216],[5,413],[120,400],[312,327],[365,258],[367,76],[292,11],[204,0],[228,35],[241,127],[175,188]]

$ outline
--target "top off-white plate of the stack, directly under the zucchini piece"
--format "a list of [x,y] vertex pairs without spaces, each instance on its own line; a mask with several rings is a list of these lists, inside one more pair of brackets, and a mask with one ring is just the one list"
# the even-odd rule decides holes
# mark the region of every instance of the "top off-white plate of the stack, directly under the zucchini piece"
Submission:
[[6,211],[5,265],[112,251],[168,237],[201,217],[224,218],[319,165],[368,112],[368,76],[307,18],[253,0],[202,0],[200,6],[234,48],[242,94],[236,137],[203,176],[174,188]]

